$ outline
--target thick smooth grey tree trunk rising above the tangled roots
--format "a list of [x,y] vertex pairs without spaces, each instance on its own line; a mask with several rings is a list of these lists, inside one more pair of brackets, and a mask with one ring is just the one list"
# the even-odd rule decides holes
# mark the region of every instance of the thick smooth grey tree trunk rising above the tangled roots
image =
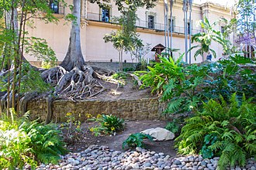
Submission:
[[73,0],[73,11],[72,14],[76,17],[76,21],[72,22],[71,35],[69,40],[69,46],[67,54],[61,63],[65,70],[70,71],[74,67],[83,70],[85,66],[85,59],[81,53],[81,41],[80,41],[80,20],[81,20],[81,0]]

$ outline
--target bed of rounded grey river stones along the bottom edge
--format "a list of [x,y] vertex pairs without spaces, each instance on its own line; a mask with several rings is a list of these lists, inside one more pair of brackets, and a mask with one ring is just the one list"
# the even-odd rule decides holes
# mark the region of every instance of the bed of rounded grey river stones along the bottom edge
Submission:
[[[164,153],[147,151],[136,148],[136,151],[113,151],[107,146],[91,145],[85,151],[65,155],[59,165],[40,165],[37,170],[126,170],[126,169],[216,169],[219,158],[203,159],[201,156],[170,158]],[[236,166],[234,170],[256,170],[256,162],[252,158],[247,160],[244,168]]]

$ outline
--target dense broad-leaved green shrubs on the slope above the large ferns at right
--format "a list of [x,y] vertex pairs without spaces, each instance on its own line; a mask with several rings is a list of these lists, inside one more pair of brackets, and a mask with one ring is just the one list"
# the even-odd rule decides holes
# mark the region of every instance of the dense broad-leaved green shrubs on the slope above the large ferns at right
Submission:
[[182,66],[181,58],[174,61],[160,57],[161,63],[155,63],[154,67],[148,66],[149,72],[138,72],[142,73],[142,87],[151,87],[152,93],[157,92],[161,100],[168,101],[165,114],[193,114],[196,110],[202,110],[202,102],[218,99],[220,95],[225,100],[232,93],[237,93],[238,97],[242,97],[243,93],[247,97],[254,96],[254,72],[238,65],[251,63],[251,59],[235,56],[201,66]]

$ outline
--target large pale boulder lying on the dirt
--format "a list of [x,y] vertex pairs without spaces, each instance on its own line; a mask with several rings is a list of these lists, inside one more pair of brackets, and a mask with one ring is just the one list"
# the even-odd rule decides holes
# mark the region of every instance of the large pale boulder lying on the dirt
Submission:
[[149,134],[154,141],[168,141],[175,138],[175,134],[164,128],[150,128],[145,131],[141,131],[142,134]]

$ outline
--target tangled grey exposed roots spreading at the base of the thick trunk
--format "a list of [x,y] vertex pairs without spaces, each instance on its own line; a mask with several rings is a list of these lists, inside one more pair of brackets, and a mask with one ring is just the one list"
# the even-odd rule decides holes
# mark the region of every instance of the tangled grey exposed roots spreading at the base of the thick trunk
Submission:
[[93,75],[100,76],[91,66],[83,66],[83,70],[74,67],[66,71],[63,67],[57,66],[46,70],[42,74],[43,80],[55,86],[55,94],[59,98],[85,99],[94,97],[106,90]]

